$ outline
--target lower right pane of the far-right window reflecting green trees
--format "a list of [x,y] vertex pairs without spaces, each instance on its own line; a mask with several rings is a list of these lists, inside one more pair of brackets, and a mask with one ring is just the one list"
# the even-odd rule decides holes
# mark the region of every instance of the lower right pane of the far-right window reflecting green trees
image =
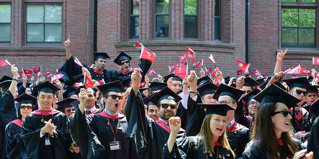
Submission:
[[315,47],[314,28],[299,28],[299,45]]

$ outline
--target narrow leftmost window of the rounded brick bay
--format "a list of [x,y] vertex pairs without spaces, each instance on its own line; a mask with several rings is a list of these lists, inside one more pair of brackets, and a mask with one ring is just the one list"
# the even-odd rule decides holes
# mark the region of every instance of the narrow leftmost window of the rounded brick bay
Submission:
[[139,0],[130,0],[130,38],[138,38],[139,34]]

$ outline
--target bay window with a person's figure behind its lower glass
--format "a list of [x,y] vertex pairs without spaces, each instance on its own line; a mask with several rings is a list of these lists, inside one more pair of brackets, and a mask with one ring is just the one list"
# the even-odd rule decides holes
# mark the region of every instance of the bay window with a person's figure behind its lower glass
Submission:
[[155,38],[169,37],[169,0],[155,0]]

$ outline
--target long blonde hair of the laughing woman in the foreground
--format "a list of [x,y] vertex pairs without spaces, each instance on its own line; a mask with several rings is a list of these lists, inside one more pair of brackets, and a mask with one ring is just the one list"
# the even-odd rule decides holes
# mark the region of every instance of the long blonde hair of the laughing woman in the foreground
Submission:
[[[202,124],[202,128],[197,134],[198,144],[195,147],[195,149],[198,149],[200,146],[203,146],[204,147],[203,153],[205,154],[206,153],[215,154],[214,153],[215,143],[212,140],[213,134],[211,134],[211,128],[210,128],[210,120],[212,116],[213,114],[208,114],[205,116],[203,124]],[[224,146],[225,149],[229,150],[231,154],[233,155],[233,157],[235,158],[234,151],[230,148],[228,140],[227,140],[226,130],[224,131],[223,135],[219,136],[218,142],[220,142],[220,144]]]

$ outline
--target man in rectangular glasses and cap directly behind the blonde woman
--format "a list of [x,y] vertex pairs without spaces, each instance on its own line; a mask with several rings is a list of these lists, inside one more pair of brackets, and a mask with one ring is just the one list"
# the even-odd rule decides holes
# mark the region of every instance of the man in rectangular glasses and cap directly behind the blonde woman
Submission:
[[242,94],[244,94],[243,90],[221,84],[213,96],[214,99],[218,100],[217,104],[227,104],[234,108],[234,110],[228,110],[227,112],[226,134],[236,158],[241,157],[246,144],[249,142],[249,129],[235,122],[235,110],[239,107],[237,101],[241,102]]

